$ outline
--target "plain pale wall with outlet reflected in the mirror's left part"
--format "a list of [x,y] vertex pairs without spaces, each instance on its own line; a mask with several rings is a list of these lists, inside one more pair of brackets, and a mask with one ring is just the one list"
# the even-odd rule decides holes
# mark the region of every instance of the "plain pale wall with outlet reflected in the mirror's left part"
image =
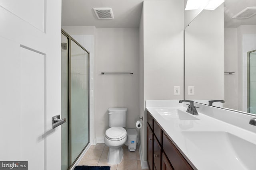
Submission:
[[[185,29],[185,98],[224,100],[223,4],[203,10]],[[194,95],[188,95],[194,86]]]

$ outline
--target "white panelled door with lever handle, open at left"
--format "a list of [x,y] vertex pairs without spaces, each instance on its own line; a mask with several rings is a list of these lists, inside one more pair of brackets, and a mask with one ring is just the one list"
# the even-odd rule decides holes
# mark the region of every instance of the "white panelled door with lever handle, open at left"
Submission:
[[60,170],[60,43],[61,0],[0,0],[0,161]]

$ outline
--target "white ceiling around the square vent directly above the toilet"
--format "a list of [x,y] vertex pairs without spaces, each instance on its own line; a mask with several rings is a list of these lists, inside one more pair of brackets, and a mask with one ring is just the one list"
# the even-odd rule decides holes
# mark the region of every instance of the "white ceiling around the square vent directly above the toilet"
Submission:
[[[62,26],[139,27],[143,0],[62,0]],[[93,8],[112,8],[114,19],[98,20]]]

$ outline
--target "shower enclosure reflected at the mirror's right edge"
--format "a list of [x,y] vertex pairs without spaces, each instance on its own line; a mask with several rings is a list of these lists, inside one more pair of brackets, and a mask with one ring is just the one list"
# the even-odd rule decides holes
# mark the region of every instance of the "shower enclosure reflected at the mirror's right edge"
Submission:
[[256,114],[256,50],[247,53],[247,109]]

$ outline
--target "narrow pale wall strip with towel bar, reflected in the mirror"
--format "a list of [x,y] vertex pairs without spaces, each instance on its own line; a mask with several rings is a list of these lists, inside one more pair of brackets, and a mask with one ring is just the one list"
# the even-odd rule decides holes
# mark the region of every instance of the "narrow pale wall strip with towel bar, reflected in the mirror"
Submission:
[[225,89],[223,107],[238,109],[238,55],[237,29],[224,28],[224,71],[235,72],[224,74]]

